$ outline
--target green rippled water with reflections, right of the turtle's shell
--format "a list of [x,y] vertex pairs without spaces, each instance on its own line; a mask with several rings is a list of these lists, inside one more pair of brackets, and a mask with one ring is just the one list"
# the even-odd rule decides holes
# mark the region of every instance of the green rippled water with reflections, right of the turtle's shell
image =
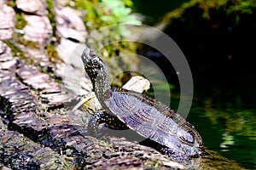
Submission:
[[256,168],[256,110],[240,102],[213,103],[195,99],[189,122],[196,125],[209,150],[238,162],[247,169]]

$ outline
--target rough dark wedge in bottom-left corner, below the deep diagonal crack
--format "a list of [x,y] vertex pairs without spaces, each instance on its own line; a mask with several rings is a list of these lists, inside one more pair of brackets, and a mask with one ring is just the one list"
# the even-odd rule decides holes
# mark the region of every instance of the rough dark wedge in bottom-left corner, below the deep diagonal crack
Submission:
[[14,131],[0,130],[0,160],[12,169],[73,169],[73,162]]

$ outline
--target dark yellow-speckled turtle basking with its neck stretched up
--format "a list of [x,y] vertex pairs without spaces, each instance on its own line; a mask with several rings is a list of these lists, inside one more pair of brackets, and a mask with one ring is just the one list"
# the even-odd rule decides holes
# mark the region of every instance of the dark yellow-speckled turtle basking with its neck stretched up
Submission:
[[190,160],[203,155],[205,148],[200,133],[177,112],[145,94],[111,87],[108,67],[94,50],[85,48],[81,58],[103,108],[90,117],[88,131],[91,134],[100,133],[102,124],[113,129],[131,128],[160,144],[160,151],[172,160]]

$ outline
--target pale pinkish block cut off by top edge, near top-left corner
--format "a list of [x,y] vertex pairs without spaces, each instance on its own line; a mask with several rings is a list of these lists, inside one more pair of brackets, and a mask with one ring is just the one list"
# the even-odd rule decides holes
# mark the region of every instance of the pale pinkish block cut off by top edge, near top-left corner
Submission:
[[16,0],[17,8],[21,10],[38,15],[45,15],[46,3],[43,0]]

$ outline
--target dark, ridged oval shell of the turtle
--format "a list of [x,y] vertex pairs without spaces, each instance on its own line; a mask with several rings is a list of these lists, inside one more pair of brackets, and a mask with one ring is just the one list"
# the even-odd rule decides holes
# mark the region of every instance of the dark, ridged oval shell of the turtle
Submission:
[[203,151],[201,135],[195,127],[160,101],[122,88],[111,88],[102,104],[109,114],[118,116],[128,127],[175,154],[194,156]]

